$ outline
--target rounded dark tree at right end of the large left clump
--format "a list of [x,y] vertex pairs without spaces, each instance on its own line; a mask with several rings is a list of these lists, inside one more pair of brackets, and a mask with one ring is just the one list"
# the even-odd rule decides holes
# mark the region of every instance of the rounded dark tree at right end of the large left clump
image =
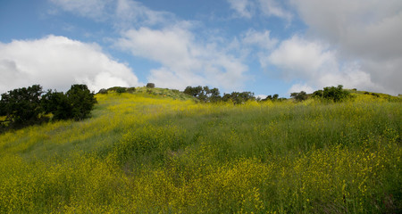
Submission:
[[86,119],[94,108],[96,98],[86,85],[72,85],[66,93],[72,106],[72,118],[76,120]]

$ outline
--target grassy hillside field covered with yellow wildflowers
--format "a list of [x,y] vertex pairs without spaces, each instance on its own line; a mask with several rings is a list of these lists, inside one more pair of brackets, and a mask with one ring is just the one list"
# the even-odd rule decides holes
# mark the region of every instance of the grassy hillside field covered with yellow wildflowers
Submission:
[[1,134],[0,213],[402,211],[401,102],[174,95],[98,94],[91,119]]

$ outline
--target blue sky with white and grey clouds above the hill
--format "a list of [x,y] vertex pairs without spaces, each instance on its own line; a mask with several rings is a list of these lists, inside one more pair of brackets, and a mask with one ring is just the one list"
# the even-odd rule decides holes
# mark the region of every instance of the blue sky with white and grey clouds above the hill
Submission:
[[0,0],[0,93],[86,84],[402,94],[401,0]]

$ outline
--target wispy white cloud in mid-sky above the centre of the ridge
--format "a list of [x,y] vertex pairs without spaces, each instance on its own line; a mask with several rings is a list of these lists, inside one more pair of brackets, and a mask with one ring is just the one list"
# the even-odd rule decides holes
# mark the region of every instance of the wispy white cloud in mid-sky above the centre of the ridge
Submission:
[[239,89],[247,79],[247,66],[213,43],[202,43],[182,26],[165,29],[130,29],[116,46],[134,56],[161,64],[151,70],[149,81],[157,86],[184,89],[185,86],[212,85]]

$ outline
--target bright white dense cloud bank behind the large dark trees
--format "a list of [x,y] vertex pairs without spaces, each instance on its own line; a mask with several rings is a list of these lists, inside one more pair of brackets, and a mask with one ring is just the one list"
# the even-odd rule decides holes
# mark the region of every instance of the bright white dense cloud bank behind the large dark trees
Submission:
[[0,92],[33,84],[67,90],[80,83],[95,91],[139,85],[130,68],[110,59],[99,45],[67,37],[0,43],[0,73]]

